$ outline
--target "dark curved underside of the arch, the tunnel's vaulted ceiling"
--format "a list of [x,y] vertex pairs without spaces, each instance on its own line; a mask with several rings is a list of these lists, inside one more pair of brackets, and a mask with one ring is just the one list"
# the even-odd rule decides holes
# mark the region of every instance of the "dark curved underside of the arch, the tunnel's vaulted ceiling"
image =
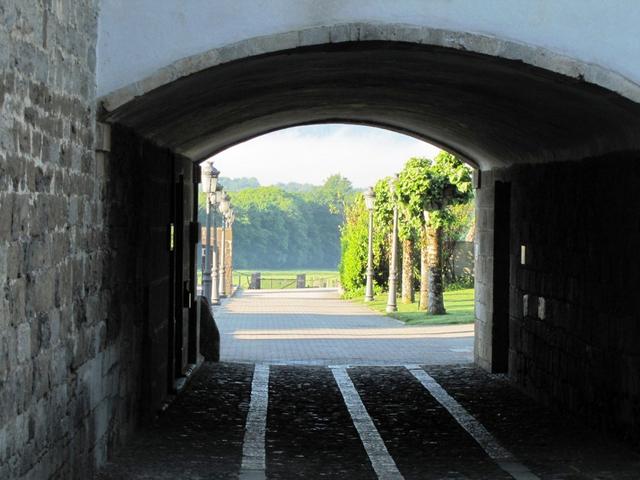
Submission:
[[610,90],[522,61],[408,42],[247,56],[176,75],[126,102],[114,98],[104,99],[105,121],[194,161],[321,122],[403,132],[483,169],[640,147],[640,105]]

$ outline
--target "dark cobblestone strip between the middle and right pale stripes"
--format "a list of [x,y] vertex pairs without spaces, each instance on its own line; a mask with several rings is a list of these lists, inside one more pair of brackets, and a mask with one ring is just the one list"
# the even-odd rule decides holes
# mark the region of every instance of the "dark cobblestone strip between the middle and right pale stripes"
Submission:
[[510,478],[406,368],[357,367],[349,376],[405,479]]

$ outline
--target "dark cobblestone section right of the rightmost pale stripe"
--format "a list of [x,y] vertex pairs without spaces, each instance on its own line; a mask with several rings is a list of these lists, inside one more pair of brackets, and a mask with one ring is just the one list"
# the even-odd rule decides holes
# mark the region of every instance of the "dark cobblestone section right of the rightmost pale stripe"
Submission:
[[425,370],[541,478],[640,478],[637,452],[543,407],[504,376],[471,366],[425,366]]

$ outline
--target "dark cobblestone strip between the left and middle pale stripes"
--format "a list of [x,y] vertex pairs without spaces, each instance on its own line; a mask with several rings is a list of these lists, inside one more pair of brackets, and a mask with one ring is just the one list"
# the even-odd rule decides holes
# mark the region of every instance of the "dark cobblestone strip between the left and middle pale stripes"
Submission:
[[267,476],[375,479],[331,371],[271,367]]

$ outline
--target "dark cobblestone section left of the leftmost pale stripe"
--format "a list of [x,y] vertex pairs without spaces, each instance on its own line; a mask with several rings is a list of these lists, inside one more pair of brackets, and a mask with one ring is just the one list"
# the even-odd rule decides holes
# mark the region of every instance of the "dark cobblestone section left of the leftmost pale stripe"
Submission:
[[205,363],[186,390],[97,479],[237,478],[252,371],[251,365]]

